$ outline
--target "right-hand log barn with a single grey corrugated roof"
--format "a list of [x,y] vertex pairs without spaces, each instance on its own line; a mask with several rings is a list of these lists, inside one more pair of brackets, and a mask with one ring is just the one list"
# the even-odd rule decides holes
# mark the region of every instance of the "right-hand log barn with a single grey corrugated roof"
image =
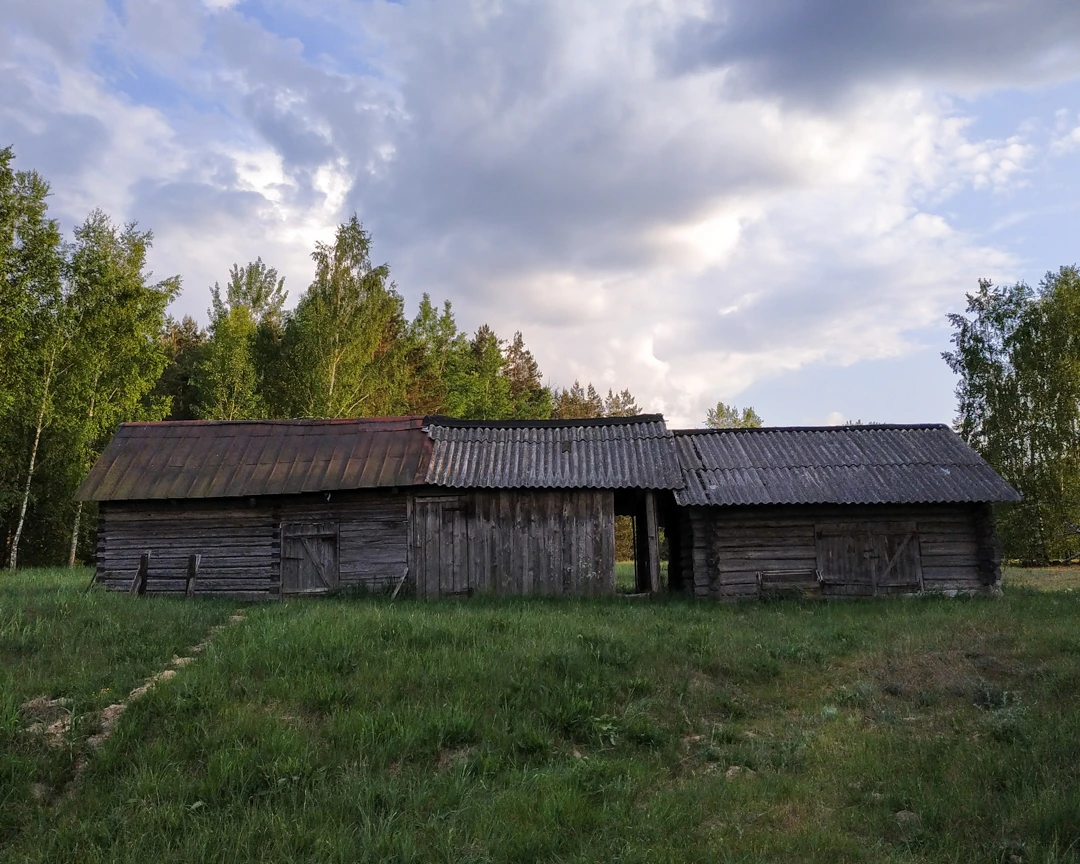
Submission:
[[990,502],[1020,496],[946,426],[674,435],[672,530],[699,597],[1000,589]]

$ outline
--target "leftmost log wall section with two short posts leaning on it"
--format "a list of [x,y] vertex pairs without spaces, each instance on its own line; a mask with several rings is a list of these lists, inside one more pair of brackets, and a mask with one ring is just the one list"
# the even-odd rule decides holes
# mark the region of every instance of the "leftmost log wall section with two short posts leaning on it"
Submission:
[[99,514],[96,572],[108,589],[126,591],[149,550],[148,594],[183,595],[188,556],[200,554],[198,594],[276,596],[279,538],[271,507],[137,501],[103,503]]

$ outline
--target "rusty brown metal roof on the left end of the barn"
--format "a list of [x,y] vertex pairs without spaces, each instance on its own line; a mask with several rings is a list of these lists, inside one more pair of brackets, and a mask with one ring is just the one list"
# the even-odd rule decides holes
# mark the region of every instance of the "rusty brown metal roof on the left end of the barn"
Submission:
[[423,483],[422,418],[123,423],[80,501],[232,498]]

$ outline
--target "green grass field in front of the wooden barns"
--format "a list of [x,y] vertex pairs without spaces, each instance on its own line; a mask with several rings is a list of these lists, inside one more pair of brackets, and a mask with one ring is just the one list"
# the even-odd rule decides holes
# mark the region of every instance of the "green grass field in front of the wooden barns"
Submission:
[[[86,578],[0,575],[4,861],[1080,861],[1076,571],[247,607],[93,752],[96,712],[239,607]],[[62,746],[26,731],[39,696],[80,718]]]

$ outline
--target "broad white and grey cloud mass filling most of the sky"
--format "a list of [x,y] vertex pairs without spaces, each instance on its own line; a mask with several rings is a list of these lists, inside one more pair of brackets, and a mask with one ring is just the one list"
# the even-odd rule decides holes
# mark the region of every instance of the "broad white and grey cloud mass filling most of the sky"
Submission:
[[[976,135],[917,70],[843,98],[737,90],[737,64],[671,63],[704,2],[276,10],[303,26],[222,0],[98,11],[83,41],[107,68],[55,48],[30,6],[0,43],[21,162],[72,217],[153,228],[178,311],[202,314],[204,286],[257,255],[295,298],[355,208],[408,297],[522,329],[553,382],[629,387],[694,422],[765,377],[904,355],[976,275],[1014,268],[940,208],[1008,194],[1039,148],[1026,129]],[[83,141],[63,138],[72,118]],[[1080,141],[1071,125],[1052,150]]]

